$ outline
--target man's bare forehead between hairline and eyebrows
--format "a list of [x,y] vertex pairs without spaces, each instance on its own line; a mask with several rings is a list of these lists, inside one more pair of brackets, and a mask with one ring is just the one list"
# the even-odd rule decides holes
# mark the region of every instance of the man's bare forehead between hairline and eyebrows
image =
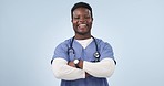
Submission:
[[73,11],[73,14],[91,14],[91,11],[86,8],[76,8],[74,11]]

